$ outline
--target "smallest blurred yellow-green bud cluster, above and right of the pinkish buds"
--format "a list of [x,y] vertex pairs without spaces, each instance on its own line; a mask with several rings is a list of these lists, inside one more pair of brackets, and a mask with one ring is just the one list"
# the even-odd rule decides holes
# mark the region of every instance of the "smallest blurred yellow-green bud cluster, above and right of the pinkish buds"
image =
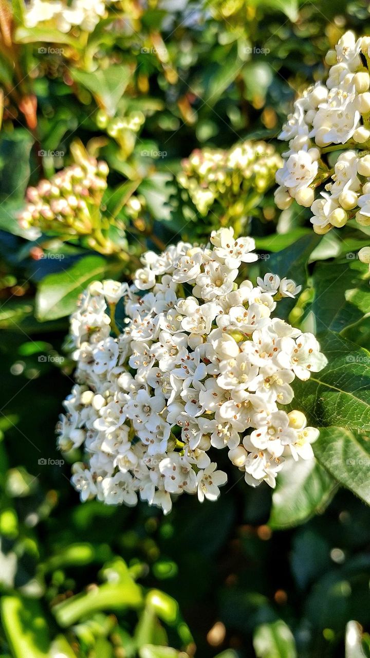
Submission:
[[134,150],[136,135],[145,122],[145,116],[142,112],[135,111],[127,116],[109,118],[107,113],[99,110],[95,120],[99,128],[107,130],[107,134],[117,141],[122,155],[127,158]]

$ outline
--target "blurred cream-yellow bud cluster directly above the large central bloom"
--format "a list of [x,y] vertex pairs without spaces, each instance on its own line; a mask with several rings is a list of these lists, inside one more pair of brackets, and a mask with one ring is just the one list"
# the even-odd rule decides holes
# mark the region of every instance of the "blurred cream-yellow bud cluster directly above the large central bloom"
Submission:
[[[177,180],[199,213],[207,215],[215,203],[221,205],[221,220],[235,224],[255,207],[271,188],[282,165],[272,145],[244,141],[231,149],[196,149],[182,161]],[[219,214],[219,213],[217,213]]]

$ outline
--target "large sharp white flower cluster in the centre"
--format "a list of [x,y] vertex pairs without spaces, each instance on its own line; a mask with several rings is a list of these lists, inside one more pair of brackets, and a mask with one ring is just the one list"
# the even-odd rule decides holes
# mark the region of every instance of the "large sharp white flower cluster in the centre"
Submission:
[[318,430],[282,407],[294,378],[327,360],[313,334],[271,317],[300,286],[240,276],[254,247],[223,228],[206,248],[147,252],[131,286],[95,282],[82,295],[70,324],[78,383],[58,427],[63,451],[86,451],[72,476],[82,500],[136,505],[140,496],[169,513],[171,495],[217,499],[226,474],[215,456],[225,447],[251,486],[275,486],[285,454],[313,456]]

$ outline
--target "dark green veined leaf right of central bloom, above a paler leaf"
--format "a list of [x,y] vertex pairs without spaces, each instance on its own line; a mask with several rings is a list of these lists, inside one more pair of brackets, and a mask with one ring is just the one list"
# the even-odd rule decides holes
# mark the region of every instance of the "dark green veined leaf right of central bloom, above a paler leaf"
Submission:
[[292,408],[317,427],[370,430],[370,353],[334,332],[320,340],[328,365],[307,382],[294,380]]

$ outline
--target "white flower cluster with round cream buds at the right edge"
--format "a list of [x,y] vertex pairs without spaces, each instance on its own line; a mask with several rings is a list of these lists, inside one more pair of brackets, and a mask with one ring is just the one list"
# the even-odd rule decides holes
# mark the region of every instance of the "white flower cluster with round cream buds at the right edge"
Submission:
[[[293,199],[311,207],[316,233],[341,228],[356,217],[370,225],[370,37],[346,32],[335,50],[326,84],[317,82],[295,103],[279,138],[289,141],[276,175],[278,208]],[[333,167],[331,151],[342,151]],[[315,188],[325,183],[315,199]]]

